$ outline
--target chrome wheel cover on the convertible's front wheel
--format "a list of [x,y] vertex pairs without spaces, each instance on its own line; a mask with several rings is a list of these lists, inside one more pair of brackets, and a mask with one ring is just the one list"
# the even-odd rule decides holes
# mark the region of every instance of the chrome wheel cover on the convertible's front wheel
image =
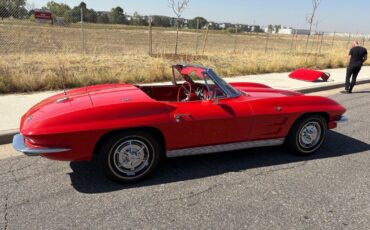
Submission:
[[298,134],[299,145],[305,149],[315,147],[321,139],[322,128],[317,121],[307,122]]

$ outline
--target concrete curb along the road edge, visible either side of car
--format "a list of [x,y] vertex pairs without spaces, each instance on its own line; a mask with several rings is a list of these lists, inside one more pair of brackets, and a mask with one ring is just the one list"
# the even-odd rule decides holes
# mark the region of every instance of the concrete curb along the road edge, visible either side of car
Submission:
[[[362,84],[368,84],[368,83],[370,83],[370,78],[358,80],[356,82],[356,85],[362,85]],[[325,86],[319,86],[319,87],[313,86],[313,87],[308,87],[308,88],[300,88],[300,89],[292,89],[292,90],[306,94],[306,93],[315,93],[315,92],[320,92],[320,91],[325,91],[325,90],[330,90],[330,89],[337,89],[337,88],[342,88],[342,87],[344,87],[344,83],[339,82],[339,83],[333,83],[333,84],[325,85]],[[13,136],[17,133],[19,133],[19,130],[17,129],[6,130],[6,131],[0,130],[0,145],[12,143]]]

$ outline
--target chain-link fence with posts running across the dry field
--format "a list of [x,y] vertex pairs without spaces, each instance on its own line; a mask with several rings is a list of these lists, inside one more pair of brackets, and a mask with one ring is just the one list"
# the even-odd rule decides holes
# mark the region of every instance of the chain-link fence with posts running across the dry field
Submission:
[[[12,11],[13,9],[13,11]],[[29,12],[0,7],[1,53],[76,54],[172,54],[176,31],[173,28],[134,27],[84,22],[81,15],[54,17],[47,10]],[[369,45],[369,36],[320,33],[279,35],[268,33],[230,34],[206,28],[181,29],[180,54],[219,54],[251,52],[329,52],[348,49],[352,40]]]

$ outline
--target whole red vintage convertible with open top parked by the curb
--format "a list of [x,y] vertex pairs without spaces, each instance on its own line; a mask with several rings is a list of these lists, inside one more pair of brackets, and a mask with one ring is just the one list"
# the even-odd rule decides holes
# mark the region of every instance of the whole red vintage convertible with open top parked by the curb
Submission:
[[109,178],[132,182],[162,157],[283,144],[310,154],[346,120],[329,98],[228,84],[202,66],[172,70],[171,85],[97,85],[49,97],[22,117],[13,147],[53,160],[98,159]]

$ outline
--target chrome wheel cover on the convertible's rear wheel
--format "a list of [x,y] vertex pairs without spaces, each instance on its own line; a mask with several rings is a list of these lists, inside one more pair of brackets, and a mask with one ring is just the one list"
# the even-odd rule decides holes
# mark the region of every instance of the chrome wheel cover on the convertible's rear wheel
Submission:
[[129,139],[113,150],[113,165],[127,176],[135,176],[149,165],[150,150],[146,143]]

